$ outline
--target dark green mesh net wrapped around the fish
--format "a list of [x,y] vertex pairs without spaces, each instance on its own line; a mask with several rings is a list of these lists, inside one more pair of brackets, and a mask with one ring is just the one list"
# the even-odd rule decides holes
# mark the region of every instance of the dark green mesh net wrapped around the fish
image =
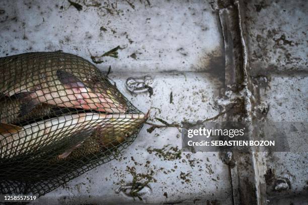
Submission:
[[0,58],[0,194],[43,195],[115,158],[147,115],[92,63],[61,52]]

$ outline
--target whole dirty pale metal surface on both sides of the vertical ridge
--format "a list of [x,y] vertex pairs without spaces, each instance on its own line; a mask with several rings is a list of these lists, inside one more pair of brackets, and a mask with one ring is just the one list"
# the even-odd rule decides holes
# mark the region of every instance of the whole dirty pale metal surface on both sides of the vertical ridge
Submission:
[[[229,13],[236,11],[230,1],[1,2],[1,56],[56,50],[82,56],[108,72],[137,108],[150,110],[136,141],[116,160],[34,204],[232,204],[239,197],[235,191],[239,184],[231,181],[229,168],[244,184],[238,190],[244,199],[256,202],[251,198],[255,193],[251,171],[258,169],[257,188],[269,203],[305,201],[306,153],[258,153],[256,158],[263,161],[254,167],[249,154],[236,164],[232,153],[180,150],[181,122],[213,118],[232,105],[237,106],[231,107],[227,118],[215,120],[247,119],[249,109],[252,120],[307,119],[305,2],[240,4],[252,108],[245,101],[250,93],[236,92],[244,86],[245,59],[239,41],[243,39],[233,38],[239,35],[239,22]],[[220,14],[231,14],[226,19],[231,21],[221,25],[218,9]],[[233,32],[224,36],[228,41],[223,41],[221,26],[227,28],[225,34]],[[225,54],[235,61],[228,61]],[[235,82],[240,86],[233,87]],[[223,93],[225,85],[233,89]],[[237,175],[236,170],[247,175]]]

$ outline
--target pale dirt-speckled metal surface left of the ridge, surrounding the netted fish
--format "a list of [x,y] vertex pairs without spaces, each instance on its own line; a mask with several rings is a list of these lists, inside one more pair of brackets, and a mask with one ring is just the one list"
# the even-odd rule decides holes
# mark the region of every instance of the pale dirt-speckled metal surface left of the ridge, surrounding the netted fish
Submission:
[[151,125],[116,160],[34,204],[232,203],[228,166],[219,154],[181,152],[180,129],[169,126],[221,111],[217,99],[224,86],[224,53],[213,5],[139,0],[1,3],[1,56],[55,50],[82,56],[108,72],[138,109],[150,110]]

